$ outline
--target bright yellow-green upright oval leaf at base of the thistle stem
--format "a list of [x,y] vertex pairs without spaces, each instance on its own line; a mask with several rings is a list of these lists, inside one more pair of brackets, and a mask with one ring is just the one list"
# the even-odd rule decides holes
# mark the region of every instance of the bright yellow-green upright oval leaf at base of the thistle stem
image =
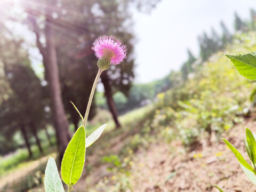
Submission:
[[68,186],[73,186],[81,177],[85,161],[85,129],[80,126],[68,147],[61,163],[61,176]]

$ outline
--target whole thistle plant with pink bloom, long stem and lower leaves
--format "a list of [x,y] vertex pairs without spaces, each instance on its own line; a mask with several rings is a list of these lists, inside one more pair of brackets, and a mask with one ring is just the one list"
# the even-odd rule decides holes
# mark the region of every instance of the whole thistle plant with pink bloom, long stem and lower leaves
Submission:
[[[68,192],[72,190],[73,186],[81,177],[85,162],[86,148],[90,147],[106,128],[106,124],[104,124],[86,138],[85,127],[99,77],[103,70],[110,67],[110,64],[117,65],[126,55],[125,47],[121,46],[121,42],[113,37],[100,37],[97,39],[94,43],[94,51],[95,55],[99,58],[97,63],[99,70],[92,86],[84,117],[74,103],[72,103],[79,116],[82,118],[83,124],[79,126],[76,133],[73,135],[73,138],[70,140],[61,163],[61,177],[68,186]],[[46,192],[64,191],[57,165],[52,157],[49,158],[46,165],[44,186]]]

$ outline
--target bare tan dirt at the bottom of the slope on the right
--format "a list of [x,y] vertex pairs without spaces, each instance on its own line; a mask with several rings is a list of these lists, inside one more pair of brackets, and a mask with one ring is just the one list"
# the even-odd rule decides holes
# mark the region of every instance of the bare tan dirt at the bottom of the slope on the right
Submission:
[[[256,122],[250,118],[222,137],[233,143],[249,162],[243,142],[246,127],[256,133]],[[222,140],[213,142],[211,146],[204,144],[208,143],[206,139],[202,143],[201,147],[190,153],[186,153],[180,141],[155,143],[147,150],[138,150],[133,154],[130,166],[132,191],[219,191],[213,185],[226,192],[256,191],[256,186],[246,177],[234,154]],[[106,177],[115,177],[107,171],[107,167],[101,165],[94,169],[92,174],[75,186],[74,191],[86,191],[85,186],[91,185],[93,188]]]

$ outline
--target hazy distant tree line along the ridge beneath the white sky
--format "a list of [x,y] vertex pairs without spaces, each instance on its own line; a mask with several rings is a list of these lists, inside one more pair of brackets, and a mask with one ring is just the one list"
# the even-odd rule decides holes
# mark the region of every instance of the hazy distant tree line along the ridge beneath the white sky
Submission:
[[[235,13],[234,34],[228,30],[225,23],[220,22],[221,34],[218,34],[212,28],[211,34],[204,32],[200,35],[198,37],[199,57],[193,55],[188,49],[188,59],[182,64],[180,71],[171,71],[166,77],[153,82],[133,84],[129,91],[129,97],[125,97],[121,92],[116,92],[114,94],[114,100],[117,103],[118,113],[123,114],[127,110],[147,105],[156,99],[158,93],[169,90],[174,86],[180,86],[187,81],[189,74],[193,73],[197,66],[202,66],[204,61],[209,59],[211,55],[224,50],[225,47],[233,41],[236,33],[247,33],[250,30],[255,30],[256,12],[250,10],[250,13],[250,21],[243,21],[239,18],[239,15]],[[99,97],[103,98],[103,95],[101,94]],[[108,108],[104,99],[98,99],[98,101],[99,106],[106,109]]]

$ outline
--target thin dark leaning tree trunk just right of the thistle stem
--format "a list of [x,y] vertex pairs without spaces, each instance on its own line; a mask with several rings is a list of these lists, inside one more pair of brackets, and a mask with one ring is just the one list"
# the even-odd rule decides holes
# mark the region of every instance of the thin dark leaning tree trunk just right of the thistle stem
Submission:
[[119,123],[118,121],[118,113],[117,113],[117,109],[116,109],[116,105],[115,105],[115,102],[114,102],[114,99],[113,99],[113,95],[112,95],[112,92],[111,92],[111,87],[109,85],[109,79],[108,79],[108,75],[107,73],[102,73],[101,75],[101,82],[103,83],[103,86],[104,86],[104,90],[105,90],[105,96],[107,98],[107,102],[108,102],[108,107],[109,107],[109,110],[112,114],[112,117],[115,121],[115,124],[116,124],[116,128],[120,128],[121,127],[121,124]]

